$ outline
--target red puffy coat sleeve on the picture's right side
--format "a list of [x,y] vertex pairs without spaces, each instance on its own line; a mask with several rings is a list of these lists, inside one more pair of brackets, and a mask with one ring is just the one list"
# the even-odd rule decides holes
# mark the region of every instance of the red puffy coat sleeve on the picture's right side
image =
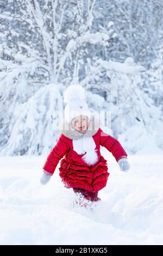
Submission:
[[127,158],[127,153],[120,142],[118,142],[114,137],[108,135],[106,132],[103,132],[101,128],[99,129],[101,131],[100,144],[111,152],[116,161],[118,162],[122,157]]

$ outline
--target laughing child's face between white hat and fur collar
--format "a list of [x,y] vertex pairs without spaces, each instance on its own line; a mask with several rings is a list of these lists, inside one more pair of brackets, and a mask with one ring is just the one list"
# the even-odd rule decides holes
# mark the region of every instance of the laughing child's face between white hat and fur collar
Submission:
[[89,126],[89,119],[85,115],[78,115],[72,119],[71,124],[76,131],[85,133]]

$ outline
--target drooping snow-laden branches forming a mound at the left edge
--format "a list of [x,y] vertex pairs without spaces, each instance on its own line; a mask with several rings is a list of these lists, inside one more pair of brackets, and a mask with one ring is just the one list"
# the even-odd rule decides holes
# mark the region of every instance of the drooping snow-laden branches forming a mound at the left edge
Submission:
[[[58,112],[54,111],[55,109]],[[11,136],[6,147],[1,148],[0,155],[16,155],[18,154],[17,149],[21,149],[20,155],[26,154],[26,151],[29,154],[35,154],[38,150],[40,154],[49,151],[55,141],[54,134],[58,136],[58,131],[53,130],[55,129],[55,125],[53,125],[55,115],[59,113],[62,118],[62,109],[63,103],[59,87],[53,83],[42,87],[28,101],[17,104],[12,115],[12,122],[10,122]],[[49,147],[46,143],[47,138],[51,141]],[[36,143],[35,147],[33,147],[33,143]]]

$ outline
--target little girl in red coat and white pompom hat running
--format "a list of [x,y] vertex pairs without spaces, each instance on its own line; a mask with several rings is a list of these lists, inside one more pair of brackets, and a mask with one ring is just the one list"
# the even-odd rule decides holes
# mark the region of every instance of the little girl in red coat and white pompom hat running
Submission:
[[66,188],[86,200],[101,200],[98,191],[106,186],[109,172],[107,161],[101,155],[100,145],[108,149],[120,169],[130,168],[127,153],[117,139],[99,127],[85,101],[85,91],[80,86],[70,86],[64,93],[65,118],[60,124],[60,137],[47,156],[43,166],[41,184],[45,185],[60,162],[59,175]]

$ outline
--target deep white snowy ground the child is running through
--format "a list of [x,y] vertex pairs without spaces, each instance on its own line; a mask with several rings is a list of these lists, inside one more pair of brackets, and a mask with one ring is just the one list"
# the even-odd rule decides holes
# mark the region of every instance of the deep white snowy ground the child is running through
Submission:
[[93,210],[72,206],[58,169],[39,184],[46,156],[1,157],[0,244],[163,244],[162,155],[128,156],[128,173],[110,153],[103,156],[110,176]]

